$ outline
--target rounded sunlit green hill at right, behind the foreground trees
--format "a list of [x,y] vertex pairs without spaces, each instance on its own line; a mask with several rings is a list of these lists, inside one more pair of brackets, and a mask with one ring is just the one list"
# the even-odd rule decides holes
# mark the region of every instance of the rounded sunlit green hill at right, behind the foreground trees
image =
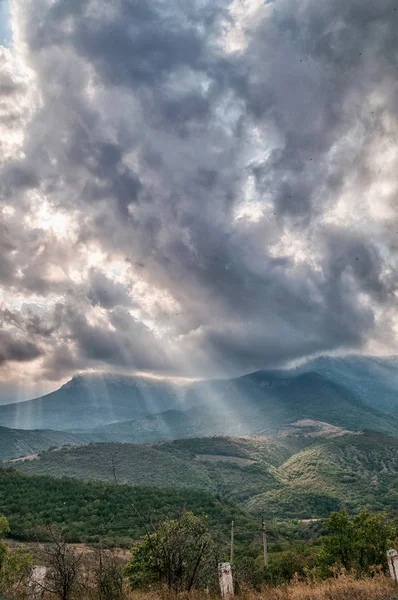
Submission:
[[398,507],[398,440],[374,432],[320,440],[278,469],[279,490],[253,497],[247,508],[287,518],[325,516],[346,506],[396,510]]

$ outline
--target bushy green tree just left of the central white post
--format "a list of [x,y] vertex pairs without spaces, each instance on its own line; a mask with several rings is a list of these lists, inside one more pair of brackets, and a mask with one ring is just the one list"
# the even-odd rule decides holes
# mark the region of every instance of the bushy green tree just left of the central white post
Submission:
[[174,592],[207,587],[216,573],[214,544],[204,518],[184,512],[134,546],[127,565],[133,589],[166,584]]

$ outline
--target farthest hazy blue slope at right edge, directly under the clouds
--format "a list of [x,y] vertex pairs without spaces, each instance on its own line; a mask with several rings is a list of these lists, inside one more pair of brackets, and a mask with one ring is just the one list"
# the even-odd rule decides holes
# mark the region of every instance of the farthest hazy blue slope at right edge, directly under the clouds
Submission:
[[398,359],[391,357],[320,357],[295,372],[317,372],[343,384],[366,404],[398,414]]

